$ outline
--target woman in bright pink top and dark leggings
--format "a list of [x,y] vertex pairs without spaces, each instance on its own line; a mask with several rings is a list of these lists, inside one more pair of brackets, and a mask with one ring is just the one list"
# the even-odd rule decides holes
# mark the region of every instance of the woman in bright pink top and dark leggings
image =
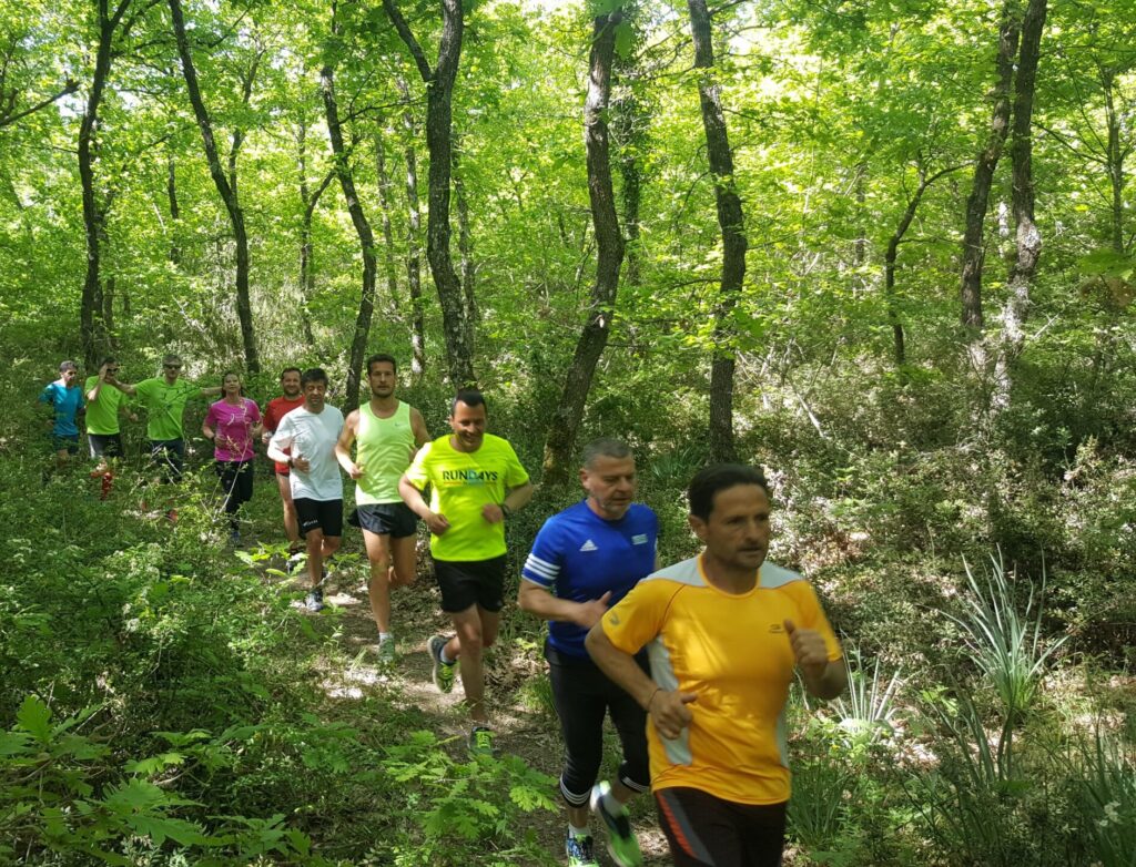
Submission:
[[236,513],[252,499],[252,438],[260,436],[260,409],[241,394],[241,377],[228,371],[222,380],[222,397],[209,407],[201,432],[214,443],[217,475],[225,493],[229,541],[239,545]]

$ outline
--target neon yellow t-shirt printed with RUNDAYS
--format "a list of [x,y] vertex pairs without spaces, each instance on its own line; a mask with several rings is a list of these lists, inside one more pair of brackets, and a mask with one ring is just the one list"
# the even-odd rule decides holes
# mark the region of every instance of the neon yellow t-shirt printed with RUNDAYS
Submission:
[[457,452],[450,437],[427,443],[407,470],[419,490],[431,486],[429,507],[444,515],[450,529],[431,534],[431,554],[444,561],[479,561],[506,553],[504,522],[491,524],[482,515],[488,503],[500,505],[507,488],[519,488],[528,473],[508,440],[486,434],[476,452]]

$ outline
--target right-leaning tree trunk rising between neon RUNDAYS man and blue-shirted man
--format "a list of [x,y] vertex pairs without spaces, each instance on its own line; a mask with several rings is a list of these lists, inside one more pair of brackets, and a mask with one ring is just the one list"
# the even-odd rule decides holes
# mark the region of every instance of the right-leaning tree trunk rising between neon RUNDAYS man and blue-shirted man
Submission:
[[617,9],[593,22],[592,50],[588,57],[587,98],[584,102],[584,144],[587,151],[587,193],[595,227],[595,283],[587,310],[587,322],[576,344],[571,367],[565,377],[560,402],[552,413],[552,427],[544,443],[544,481],[562,485],[568,480],[573,448],[584,404],[592,387],[611,331],[619,269],[624,261],[624,236],[616,212],[611,183],[611,157],[608,137],[608,104],[611,99],[611,64],[616,49]]

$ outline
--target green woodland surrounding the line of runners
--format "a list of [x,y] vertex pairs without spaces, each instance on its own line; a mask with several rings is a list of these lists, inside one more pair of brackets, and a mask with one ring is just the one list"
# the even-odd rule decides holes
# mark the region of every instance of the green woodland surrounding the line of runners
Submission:
[[267,472],[237,552],[200,443],[175,527],[140,426],[108,503],[43,481],[64,357],[350,409],[386,351],[542,482],[515,566],[593,436],[665,561],[699,466],[767,468],[853,680],[794,697],[792,864],[1136,865],[1134,45],[1130,0],[5,5],[0,860],[556,862],[536,623],[469,763],[420,653],[291,605]]

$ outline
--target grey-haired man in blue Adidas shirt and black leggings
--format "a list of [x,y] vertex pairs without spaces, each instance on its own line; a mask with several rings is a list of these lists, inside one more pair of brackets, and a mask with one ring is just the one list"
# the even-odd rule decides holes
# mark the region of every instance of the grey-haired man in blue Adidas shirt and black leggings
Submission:
[[[659,520],[650,508],[632,502],[635,458],[624,443],[599,439],[588,445],[579,480],[587,498],[541,528],[521,572],[517,603],[551,621],[544,657],[565,738],[560,793],[568,805],[568,864],[596,864],[587,827],[591,803],[607,825],[612,859],[628,867],[643,862],[624,805],[650,788],[646,715],[595,666],[584,638],[610,606],[655,569]],[[624,761],[617,780],[594,784],[608,712],[623,743]]]

